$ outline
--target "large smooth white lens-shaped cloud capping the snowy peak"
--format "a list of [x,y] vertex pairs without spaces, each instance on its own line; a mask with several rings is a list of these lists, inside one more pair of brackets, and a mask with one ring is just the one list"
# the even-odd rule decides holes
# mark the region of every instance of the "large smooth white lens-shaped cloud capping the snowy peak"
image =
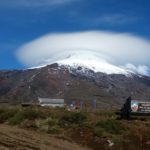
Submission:
[[23,45],[17,56],[31,67],[47,61],[53,63],[82,51],[94,53],[99,59],[125,66],[134,72],[148,74],[150,41],[129,33],[88,31],[47,34]]

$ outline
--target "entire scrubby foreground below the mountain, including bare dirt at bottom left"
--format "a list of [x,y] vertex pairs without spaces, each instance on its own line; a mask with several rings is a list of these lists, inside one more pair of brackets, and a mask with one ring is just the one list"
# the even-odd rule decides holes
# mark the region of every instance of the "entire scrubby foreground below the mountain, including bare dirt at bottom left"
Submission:
[[[0,108],[0,150],[87,149],[78,145],[94,150],[150,149],[150,118],[116,118],[111,110]],[[114,142],[113,147],[108,146],[107,140]]]

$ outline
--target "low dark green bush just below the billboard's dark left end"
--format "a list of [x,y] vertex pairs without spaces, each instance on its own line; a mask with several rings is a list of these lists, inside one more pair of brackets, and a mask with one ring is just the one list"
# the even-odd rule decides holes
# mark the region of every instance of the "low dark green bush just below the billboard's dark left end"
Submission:
[[106,132],[111,134],[120,134],[121,131],[125,129],[121,122],[111,119],[99,121],[96,126],[103,128]]

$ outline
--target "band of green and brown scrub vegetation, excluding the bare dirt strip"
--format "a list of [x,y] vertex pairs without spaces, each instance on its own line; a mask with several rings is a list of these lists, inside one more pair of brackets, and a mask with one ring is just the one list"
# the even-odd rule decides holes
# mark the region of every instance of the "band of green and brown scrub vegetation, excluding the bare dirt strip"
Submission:
[[141,137],[144,137],[145,143],[149,144],[149,120],[125,121],[116,118],[114,111],[104,110],[68,111],[62,108],[45,107],[0,108],[0,123],[28,128],[30,131],[41,131],[40,133],[43,131],[55,134],[57,137],[65,136],[69,140],[95,150],[108,148],[111,144],[108,141],[114,144],[114,149],[121,149],[123,144],[128,143],[128,140],[124,139],[129,139],[133,145],[141,144]]

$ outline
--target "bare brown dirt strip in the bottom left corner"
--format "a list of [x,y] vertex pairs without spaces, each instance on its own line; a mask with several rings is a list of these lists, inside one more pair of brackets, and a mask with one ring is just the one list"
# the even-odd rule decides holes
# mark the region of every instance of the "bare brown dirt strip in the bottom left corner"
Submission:
[[87,150],[63,137],[0,124],[0,150]]

